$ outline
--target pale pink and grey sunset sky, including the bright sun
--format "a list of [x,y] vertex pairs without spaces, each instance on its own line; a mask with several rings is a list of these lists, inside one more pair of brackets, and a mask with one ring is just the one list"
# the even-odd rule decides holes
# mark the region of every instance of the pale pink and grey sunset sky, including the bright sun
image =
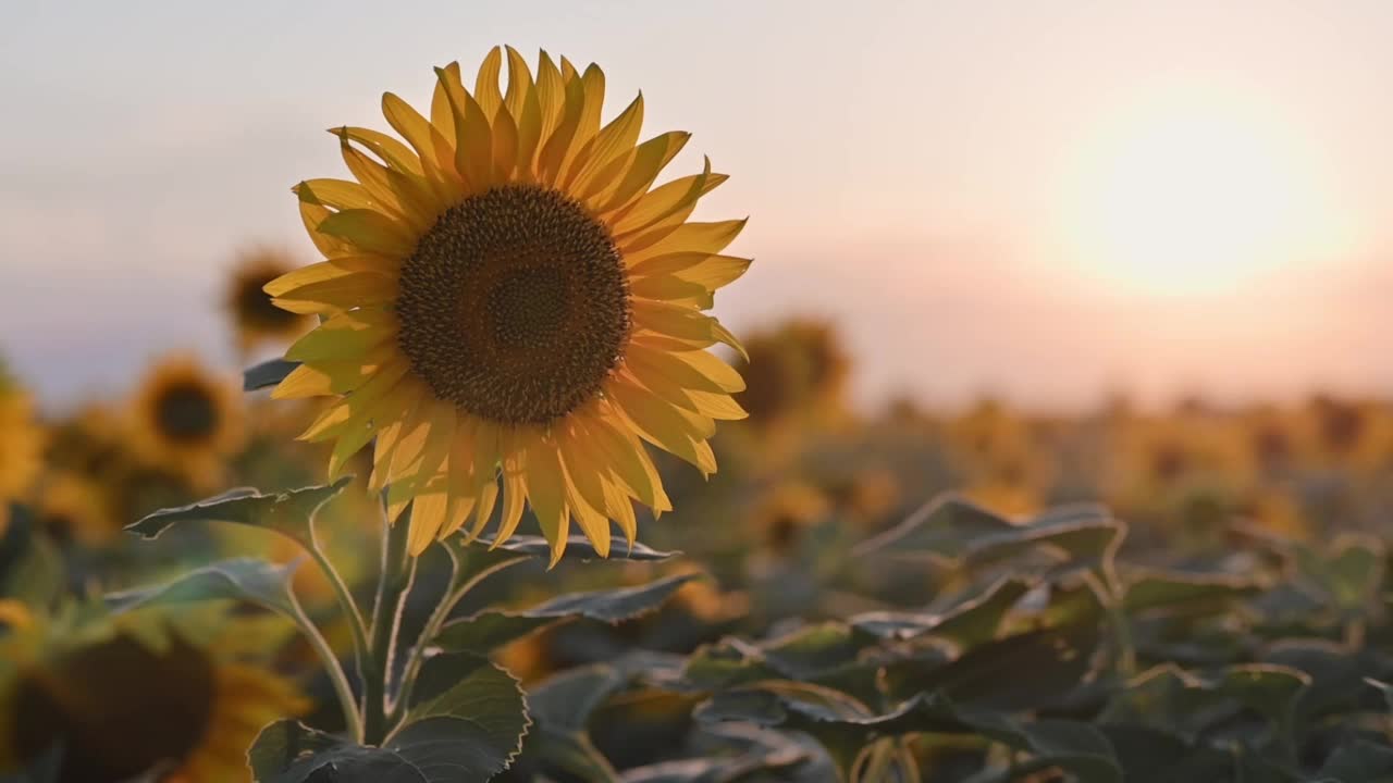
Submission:
[[[749,216],[717,298],[832,319],[855,398],[1393,394],[1393,4],[6,3],[0,352],[53,404],[196,350],[238,249],[311,261],[325,128],[510,43],[599,63]],[[228,364],[230,366],[230,364]]]

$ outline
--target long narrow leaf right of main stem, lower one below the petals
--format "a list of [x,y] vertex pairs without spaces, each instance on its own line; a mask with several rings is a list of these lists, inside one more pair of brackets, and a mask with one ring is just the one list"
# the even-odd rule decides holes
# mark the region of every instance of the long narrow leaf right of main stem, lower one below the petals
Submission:
[[698,574],[678,574],[639,587],[561,595],[525,612],[481,612],[446,624],[433,644],[449,651],[488,655],[554,623],[578,617],[602,623],[631,620],[657,609],[694,578]]

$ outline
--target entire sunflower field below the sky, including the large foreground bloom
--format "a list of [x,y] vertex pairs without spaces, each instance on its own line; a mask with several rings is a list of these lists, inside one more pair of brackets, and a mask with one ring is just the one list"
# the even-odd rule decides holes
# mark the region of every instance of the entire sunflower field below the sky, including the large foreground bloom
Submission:
[[0,779],[1393,782],[1387,400],[861,410],[710,315],[642,95],[433,85],[237,254],[240,366],[0,378]]

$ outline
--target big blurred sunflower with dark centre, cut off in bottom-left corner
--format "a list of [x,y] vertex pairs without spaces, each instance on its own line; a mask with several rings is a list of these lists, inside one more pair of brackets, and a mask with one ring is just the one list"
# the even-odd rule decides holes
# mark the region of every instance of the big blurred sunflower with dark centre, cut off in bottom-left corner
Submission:
[[60,744],[56,783],[247,780],[260,727],[308,709],[280,677],[149,624],[36,619],[0,651],[0,769]]

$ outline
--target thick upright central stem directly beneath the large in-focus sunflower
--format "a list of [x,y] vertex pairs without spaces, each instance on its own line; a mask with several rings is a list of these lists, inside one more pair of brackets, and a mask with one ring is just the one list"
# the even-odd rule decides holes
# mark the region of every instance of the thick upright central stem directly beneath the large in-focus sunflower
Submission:
[[396,524],[386,521],[382,531],[382,573],[378,581],[378,600],[372,610],[372,635],[368,656],[362,662],[362,743],[379,745],[387,737],[387,685],[391,679],[391,659],[396,649],[401,609],[411,581],[415,560],[407,555],[411,536],[411,509]]

